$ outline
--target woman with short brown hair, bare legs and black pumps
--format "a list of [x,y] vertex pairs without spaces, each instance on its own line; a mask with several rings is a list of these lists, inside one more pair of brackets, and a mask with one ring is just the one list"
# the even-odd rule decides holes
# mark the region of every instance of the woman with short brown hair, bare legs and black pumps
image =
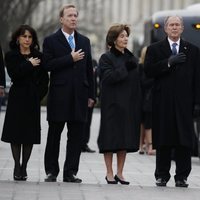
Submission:
[[[110,51],[99,60],[101,78],[101,122],[98,137],[104,154],[108,184],[129,184],[123,177],[127,152],[139,147],[141,88],[137,59],[126,48],[130,28],[112,26],[107,33]],[[117,154],[117,173],[113,175],[113,153]]]

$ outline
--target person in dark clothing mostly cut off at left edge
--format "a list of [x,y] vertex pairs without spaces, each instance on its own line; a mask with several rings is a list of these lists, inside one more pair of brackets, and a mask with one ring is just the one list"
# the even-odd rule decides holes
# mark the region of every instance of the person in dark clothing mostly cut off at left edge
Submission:
[[4,68],[4,62],[3,62],[2,49],[0,46],[0,111],[1,111],[1,104],[3,101],[5,87],[6,87],[5,68]]

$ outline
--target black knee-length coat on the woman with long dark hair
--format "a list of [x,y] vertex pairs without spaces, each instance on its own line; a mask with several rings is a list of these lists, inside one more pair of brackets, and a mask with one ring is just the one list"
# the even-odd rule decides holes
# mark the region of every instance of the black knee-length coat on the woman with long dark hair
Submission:
[[[29,57],[42,59],[34,50]],[[48,90],[48,73],[42,64],[33,67],[18,51],[5,55],[5,63],[12,85],[1,140],[14,144],[40,143],[40,100]]]

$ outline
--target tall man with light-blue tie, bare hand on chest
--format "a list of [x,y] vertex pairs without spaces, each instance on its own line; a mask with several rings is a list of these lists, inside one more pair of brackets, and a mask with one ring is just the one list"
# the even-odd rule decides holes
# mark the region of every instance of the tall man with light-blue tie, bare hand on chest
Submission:
[[56,181],[59,173],[60,137],[65,124],[68,139],[63,181],[82,182],[76,174],[87,110],[94,104],[94,80],[90,41],[75,30],[77,18],[74,5],[64,6],[60,11],[62,27],[46,37],[43,44],[45,67],[50,72],[45,150],[47,182]]

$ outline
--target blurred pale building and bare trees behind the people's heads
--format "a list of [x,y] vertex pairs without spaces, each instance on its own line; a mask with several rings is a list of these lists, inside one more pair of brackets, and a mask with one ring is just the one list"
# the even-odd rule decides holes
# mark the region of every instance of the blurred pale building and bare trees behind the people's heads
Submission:
[[10,33],[19,24],[30,24],[37,32],[40,44],[45,36],[59,27],[59,10],[73,3],[79,10],[78,29],[92,43],[92,54],[98,60],[105,51],[105,35],[113,23],[131,26],[129,48],[143,42],[144,22],[159,10],[183,9],[200,0],[6,0],[0,6],[0,42],[8,49]]

